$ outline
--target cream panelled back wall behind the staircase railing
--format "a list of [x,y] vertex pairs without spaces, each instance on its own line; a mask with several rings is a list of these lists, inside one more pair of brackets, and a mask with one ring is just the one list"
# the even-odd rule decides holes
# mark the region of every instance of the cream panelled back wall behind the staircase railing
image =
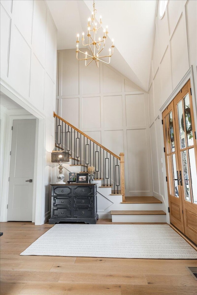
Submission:
[[58,51],[58,68],[58,115],[125,153],[127,196],[152,195],[147,93],[110,65],[85,67],[75,49]]

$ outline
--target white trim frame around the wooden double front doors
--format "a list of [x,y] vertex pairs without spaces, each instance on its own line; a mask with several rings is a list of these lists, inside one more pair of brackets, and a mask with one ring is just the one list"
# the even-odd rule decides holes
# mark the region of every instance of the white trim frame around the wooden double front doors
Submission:
[[[195,127],[197,128],[197,105],[195,100],[195,84],[194,84],[194,73],[193,73],[193,66],[189,68],[187,73],[183,76],[179,84],[176,86],[174,91],[171,93],[171,95],[168,97],[166,102],[162,105],[162,107],[159,109],[159,117],[162,118],[162,113],[167,108],[167,106],[171,103],[171,101],[175,98],[175,96],[179,93],[179,91],[183,88],[183,86],[187,83],[187,81],[190,80],[191,83],[191,94],[192,94],[192,104],[193,104],[193,112],[194,112],[194,123]],[[160,130],[161,130],[161,140],[164,147],[164,133],[163,133],[163,125],[160,124]],[[166,205],[166,217],[167,217],[167,223],[170,224],[170,214],[168,212],[168,190],[167,190],[167,182],[166,182],[166,161],[165,161],[165,153],[164,150],[162,150],[163,154],[163,182],[164,182],[164,192],[165,192],[165,205]]]

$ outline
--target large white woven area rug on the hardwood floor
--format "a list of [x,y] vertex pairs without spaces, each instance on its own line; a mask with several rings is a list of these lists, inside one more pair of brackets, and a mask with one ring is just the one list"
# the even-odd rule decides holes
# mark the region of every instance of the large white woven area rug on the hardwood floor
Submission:
[[20,255],[197,259],[167,224],[56,224]]

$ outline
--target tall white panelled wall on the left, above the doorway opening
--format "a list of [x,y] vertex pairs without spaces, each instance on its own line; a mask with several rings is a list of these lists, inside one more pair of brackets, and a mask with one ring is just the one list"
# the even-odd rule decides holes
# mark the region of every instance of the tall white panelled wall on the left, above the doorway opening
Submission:
[[44,0],[1,0],[0,35],[2,92],[39,118],[34,193],[35,223],[42,224],[50,214],[48,153],[54,148],[57,29]]

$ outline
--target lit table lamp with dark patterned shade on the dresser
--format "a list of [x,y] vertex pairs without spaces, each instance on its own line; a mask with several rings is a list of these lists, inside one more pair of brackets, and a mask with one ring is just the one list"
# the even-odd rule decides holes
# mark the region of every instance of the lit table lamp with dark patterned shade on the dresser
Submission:
[[52,151],[51,153],[51,162],[52,163],[59,163],[59,175],[57,176],[58,182],[56,184],[65,184],[63,182],[64,175],[62,173],[62,163],[69,162],[69,152],[68,151]]

